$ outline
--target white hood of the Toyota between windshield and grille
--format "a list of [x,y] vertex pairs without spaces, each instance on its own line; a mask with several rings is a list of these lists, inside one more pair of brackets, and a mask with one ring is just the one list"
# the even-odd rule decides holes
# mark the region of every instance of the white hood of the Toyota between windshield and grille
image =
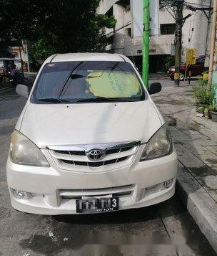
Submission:
[[20,131],[40,148],[146,142],[162,125],[151,100],[133,103],[32,104]]

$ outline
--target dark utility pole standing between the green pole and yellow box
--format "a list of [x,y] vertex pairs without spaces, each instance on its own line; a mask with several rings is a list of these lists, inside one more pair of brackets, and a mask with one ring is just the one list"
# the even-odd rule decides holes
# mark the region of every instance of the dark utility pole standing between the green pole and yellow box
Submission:
[[[217,1],[217,0],[216,0]],[[180,84],[180,65],[181,65],[181,44],[182,44],[182,27],[183,27],[183,0],[174,0],[174,11],[176,18],[176,39],[175,39],[175,74],[174,86]]]

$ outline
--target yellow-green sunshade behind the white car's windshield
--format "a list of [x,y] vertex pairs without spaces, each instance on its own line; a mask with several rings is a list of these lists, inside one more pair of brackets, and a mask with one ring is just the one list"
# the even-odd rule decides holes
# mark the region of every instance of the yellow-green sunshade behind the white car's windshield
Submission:
[[86,82],[96,97],[129,98],[141,92],[137,77],[131,72],[94,71]]

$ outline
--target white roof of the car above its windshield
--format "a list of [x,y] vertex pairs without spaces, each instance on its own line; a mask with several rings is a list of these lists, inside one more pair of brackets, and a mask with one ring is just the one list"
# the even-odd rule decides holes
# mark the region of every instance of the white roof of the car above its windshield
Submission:
[[131,62],[126,56],[121,54],[99,53],[99,52],[78,52],[54,54],[45,62],[70,62],[70,61],[117,61]]

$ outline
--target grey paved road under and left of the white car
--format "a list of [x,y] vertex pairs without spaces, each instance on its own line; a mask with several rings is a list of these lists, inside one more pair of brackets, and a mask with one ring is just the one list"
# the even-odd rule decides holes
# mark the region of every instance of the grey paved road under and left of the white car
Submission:
[[145,209],[91,216],[51,217],[12,209],[6,158],[24,103],[13,90],[0,94],[1,256],[216,255],[178,196]]

